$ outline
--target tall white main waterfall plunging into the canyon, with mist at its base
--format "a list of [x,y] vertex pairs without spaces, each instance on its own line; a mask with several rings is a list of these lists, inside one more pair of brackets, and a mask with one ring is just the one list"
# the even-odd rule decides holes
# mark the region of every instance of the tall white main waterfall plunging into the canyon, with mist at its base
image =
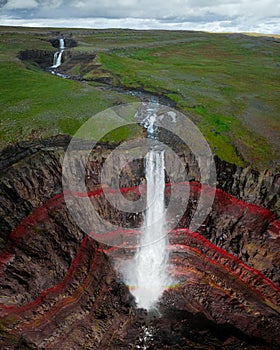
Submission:
[[148,311],[155,308],[163,291],[174,283],[167,273],[164,150],[154,138],[154,121],[155,114],[151,113],[145,125],[150,137],[150,148],[145,156],[147,204],[141,238],[133,260],[121,271],[137,307]]

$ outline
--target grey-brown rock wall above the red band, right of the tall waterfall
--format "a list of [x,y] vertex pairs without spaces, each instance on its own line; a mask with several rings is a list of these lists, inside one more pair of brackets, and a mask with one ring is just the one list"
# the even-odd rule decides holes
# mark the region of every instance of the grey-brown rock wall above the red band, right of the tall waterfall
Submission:
[[[170,163],[171,178],[178,181],[187,179],[190,181],[201,181],[201,169],[190,149],[182,144],[180,139],[167,130],[160,131],[160,140],[171,147],[186,164],[186,177],[180,177],[177,167]],[[166,141],[167,140],[167,141]],[[170,160],[172,162],[172,158]],[[214,157],[217,181],[215,186],[226,193],[246,202],[262,206],[280,218],[280,174],[268,169],[257,171],[252,166],[245,168]],[[209,162],[204,159],[205,164]],[[182,172],[181,172],[182,173]],[[178,176],[179,175],[179,176]]]

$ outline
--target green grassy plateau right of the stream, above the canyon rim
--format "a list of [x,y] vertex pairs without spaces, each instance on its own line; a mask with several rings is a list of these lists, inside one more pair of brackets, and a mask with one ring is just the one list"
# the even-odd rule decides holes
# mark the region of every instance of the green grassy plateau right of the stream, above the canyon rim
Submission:
[[[203,41],[170,44],[168,49],[128,49],[100,53],[99,58],[121,84],[163,93],[181,111],[191,112],[221,159],[270,167],[279,159],[279,148],[262,135],[262,128],[279,132],[277,47],[268,50],[265,42],[253,42],[254,49],[248,49],[245,39],[239,41],[205,34]],[[258,132],[243,121],[255,98],[265,110],[263,120],[255,118]]]

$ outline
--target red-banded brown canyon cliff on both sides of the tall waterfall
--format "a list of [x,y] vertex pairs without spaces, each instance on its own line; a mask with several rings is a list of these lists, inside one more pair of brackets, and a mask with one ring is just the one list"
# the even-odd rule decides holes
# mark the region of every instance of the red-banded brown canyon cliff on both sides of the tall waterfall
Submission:
[[[0,156],[1,348],[279,347],[277,176],[217,159],[219,189],[207,221],[194,233],[187,227],[201,185],[195,181],[195,161],[181,153],[192,181],[190,204],[170,233],[170,270],[176,283],[159,303],[160,316],[147,315],[136,309],[113,268],[113,261],[132,256],[133,245],[112,249],[98,243],[67,210],[61,159],[68,142],[33,141]],[[91,154],[87,189],[111,222],[140,225],[140,215],[111,208],[100,192],[100,170],[111,147],[100,145]],[[123,170],[124,196],[138,198],[135,185],[143,184],[143,176],[141,161]],[[174,185],[173,194],[186,185]],[[122,237],[123,244],[130,239],[125,232]]]

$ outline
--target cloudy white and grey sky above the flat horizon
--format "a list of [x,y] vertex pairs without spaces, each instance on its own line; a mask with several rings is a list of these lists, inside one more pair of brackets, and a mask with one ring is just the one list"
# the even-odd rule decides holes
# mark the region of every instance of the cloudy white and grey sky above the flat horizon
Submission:
[[0,25],[280,34],[280,1],[0,0]]

